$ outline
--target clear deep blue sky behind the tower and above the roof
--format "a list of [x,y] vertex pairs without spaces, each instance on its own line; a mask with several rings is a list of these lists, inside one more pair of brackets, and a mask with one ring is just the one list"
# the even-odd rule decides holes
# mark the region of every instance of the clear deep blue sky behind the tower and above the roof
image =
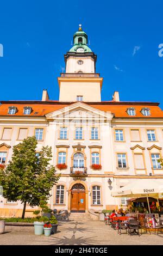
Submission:
[[58,100],[64,54],[82,23],[104,77],[102,100],[160,102],[163,109],[161,1],[1,1],[1,100]]

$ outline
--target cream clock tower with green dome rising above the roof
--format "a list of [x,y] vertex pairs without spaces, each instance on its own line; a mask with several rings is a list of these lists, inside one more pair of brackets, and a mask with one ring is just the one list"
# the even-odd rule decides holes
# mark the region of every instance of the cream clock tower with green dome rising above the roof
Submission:
[[87,46],[82,25],[73,35],[73,47],[64,57],[66,72],[58,77],[59,101],[101,101],[103,78],[96,73],[97,55]]

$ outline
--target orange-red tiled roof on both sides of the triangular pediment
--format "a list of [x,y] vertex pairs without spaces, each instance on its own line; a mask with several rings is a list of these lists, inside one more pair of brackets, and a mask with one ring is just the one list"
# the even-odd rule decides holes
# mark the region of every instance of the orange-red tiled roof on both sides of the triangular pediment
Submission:
[[[29,116],[44,116],[45,114],[57,111],[61,108],[70,106],[74,102],[59,102],[59,101],[1,101],[0,115],[9,115],[8,109],[11,106],[17,107],[17,112],[11,116],[23,115],[23,108],[26,106],[32,107],[32,113]],[[163,118],[163,111],[158,106],[159,103],[154,102],[115,102],[115,101],[102,101],[102,102],[84,102],[87,105],[97,108],[101,111],[110,112],[116,118]],[[134,107],[136,115],[131,117],[127,114],[127,108]],[[141,114],[142,108],[149,108],[151,115],[145,117]]]

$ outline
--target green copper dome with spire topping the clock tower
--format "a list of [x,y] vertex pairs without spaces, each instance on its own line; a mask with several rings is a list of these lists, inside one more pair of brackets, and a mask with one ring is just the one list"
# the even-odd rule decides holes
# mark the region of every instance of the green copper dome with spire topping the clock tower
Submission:
[[92,52],[87,46],[87,34],[83,31],[82,25],[79,25],[78,31],[73,35],[73,47],[70,52]]

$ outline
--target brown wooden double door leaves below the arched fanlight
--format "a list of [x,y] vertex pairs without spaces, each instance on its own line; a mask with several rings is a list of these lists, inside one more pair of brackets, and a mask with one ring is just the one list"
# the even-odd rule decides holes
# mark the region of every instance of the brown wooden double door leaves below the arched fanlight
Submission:
[[71,192],[71,212],[85,212],[85,191]]

